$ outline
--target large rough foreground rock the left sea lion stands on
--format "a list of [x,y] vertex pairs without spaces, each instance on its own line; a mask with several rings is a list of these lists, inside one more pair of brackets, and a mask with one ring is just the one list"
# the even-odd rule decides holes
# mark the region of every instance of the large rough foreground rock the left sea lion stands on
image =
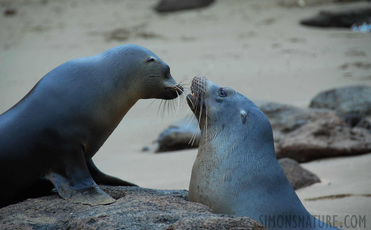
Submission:
[[[248,217],[213,214],[207,206],[140,187],[101,186],[109,205],[73,204],[58,194],[0,209],[0,229],[265,229]],[[185,193],[186,191],[179,191]]]

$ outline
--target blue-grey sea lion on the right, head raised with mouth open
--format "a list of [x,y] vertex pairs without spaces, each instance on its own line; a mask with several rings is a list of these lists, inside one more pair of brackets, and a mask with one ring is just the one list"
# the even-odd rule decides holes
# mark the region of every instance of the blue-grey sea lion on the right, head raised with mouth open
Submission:
[[267,229],[331,227],[299,200],[277,161],[272,126],[252,101],[203,76],[194,77],[190,89],[187,102],[201,140],[189,201],[214,213],[254,218]]

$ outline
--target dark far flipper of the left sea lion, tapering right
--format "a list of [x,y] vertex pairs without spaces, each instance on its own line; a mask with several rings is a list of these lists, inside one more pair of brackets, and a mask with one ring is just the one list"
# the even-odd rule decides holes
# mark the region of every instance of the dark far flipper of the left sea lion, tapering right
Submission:
[[131,182],[121,180],[118,177],[105,174],[104,172],[102,172],[96,167],[92,159],[86,162],[86,164],[88,165],[90,175],[92,176],[93,180],[97,184],[111,185],[111,186],[118,186],[118,185],[119,186],[138,186]]

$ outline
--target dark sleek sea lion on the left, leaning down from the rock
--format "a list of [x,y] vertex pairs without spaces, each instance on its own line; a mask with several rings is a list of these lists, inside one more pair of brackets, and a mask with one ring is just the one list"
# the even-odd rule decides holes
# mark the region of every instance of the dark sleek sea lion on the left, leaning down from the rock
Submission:
[[138,45],[56,67],[0,115],[0,207],[53,188],[73,203],[115,202],[96,183],[137,185],[104,174],[92,157],[139,99],[182,93],[169,66]]

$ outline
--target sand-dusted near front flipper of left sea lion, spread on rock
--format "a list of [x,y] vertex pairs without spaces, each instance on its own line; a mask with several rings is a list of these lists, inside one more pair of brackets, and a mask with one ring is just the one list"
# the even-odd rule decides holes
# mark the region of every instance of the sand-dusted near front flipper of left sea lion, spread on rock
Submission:
[[65,155],[59,167],[54,172],[50,172],[47,179],[53,183],[65,200],[91,206],[111,204],[116,201],[93,181],[83,154]]

